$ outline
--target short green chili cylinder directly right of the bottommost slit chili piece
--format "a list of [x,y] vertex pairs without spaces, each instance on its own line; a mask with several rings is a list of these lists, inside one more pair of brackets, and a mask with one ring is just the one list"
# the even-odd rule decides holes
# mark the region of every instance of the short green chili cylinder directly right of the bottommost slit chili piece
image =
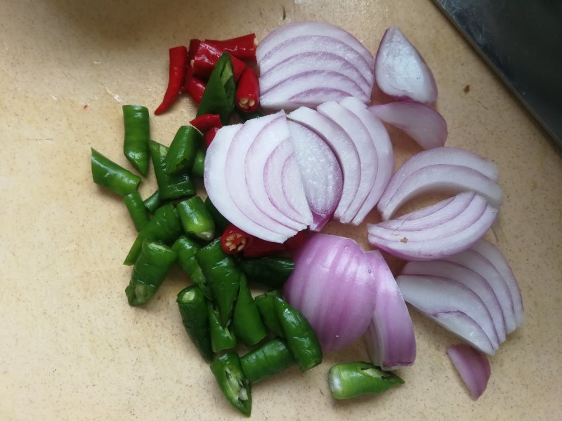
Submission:
[[240,357],[242,370],[250,383],[281,373],[296,361],[284,340],[275,338]]

